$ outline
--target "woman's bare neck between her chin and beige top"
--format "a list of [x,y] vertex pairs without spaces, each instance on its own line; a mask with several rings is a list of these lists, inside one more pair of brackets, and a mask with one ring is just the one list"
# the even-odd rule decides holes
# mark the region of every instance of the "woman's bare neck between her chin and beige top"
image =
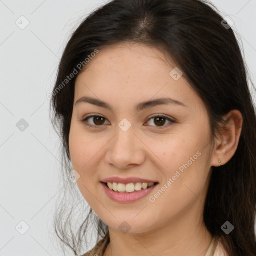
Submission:
[[110,242],[104,256],[202,256],[209,247],[212,235],[202,221],[194,221],[188,216],[186,221],[165,223],[143,233],[124,234],[109,227]]

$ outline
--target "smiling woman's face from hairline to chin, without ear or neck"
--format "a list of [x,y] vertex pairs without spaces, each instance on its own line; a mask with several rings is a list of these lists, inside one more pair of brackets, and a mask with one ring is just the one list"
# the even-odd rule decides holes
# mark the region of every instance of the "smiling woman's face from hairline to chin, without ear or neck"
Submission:
[[[199,96],[162,51],[144,44],[108,46],[85,67],[75,80],[69,150],[78,188],[94,212],[109,227],[133,233],[201,219],[216,159]],[[157,183],[118,192],[106,187],[106,178],[118,190]]]

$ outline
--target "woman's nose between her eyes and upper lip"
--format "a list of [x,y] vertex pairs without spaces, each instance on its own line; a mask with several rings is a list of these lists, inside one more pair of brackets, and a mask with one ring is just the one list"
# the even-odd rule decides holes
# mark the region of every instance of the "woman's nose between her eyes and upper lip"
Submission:
[[107,144],[105,161],[119,169],[142,164],[145,160],[145,145],[137,136],[131,127],[123,131],[117,126],[115,136]]

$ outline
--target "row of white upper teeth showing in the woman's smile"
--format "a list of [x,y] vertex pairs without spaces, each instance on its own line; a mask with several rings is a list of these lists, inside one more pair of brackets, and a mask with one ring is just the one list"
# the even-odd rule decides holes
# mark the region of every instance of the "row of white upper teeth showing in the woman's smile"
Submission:
[[136,183],[117,183],[117,182],[107,182],[106,185],[114,190],[114,191],[118,191],[118,192],[133,192],[134,190],[138,191],[143,189],[146,189],[147,187],[150,187],[154,184],[154,182],[136,182]]

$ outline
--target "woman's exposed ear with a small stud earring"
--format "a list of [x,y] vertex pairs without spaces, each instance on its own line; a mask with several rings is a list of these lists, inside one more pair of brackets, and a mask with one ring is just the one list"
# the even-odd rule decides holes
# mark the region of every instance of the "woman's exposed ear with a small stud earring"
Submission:
[[223,119],[225,122],[220,129],[219,138],[215,138],[211,166],[220,166],[229,161],[237,148],[241,134],[242,115],[239,110],[230,110]]

